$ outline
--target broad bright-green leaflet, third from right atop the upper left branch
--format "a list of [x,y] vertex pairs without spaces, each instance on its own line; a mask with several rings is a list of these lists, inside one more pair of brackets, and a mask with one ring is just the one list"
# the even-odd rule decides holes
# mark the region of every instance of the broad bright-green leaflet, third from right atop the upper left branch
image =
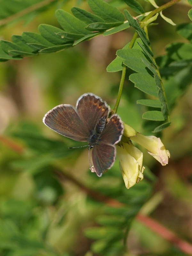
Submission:
[[83,35],[89,34],[89,31],[85,29],[86,24],[83,21],[77,19],[72,14],[59,9],[55,12],[55,15],[61,27],[66,32]]

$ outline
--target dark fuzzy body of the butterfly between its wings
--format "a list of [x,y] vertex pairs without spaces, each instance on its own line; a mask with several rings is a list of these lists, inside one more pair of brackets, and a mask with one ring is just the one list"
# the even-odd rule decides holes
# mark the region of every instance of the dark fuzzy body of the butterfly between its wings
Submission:
[[106,116],[102,116],[96,124],[95,129],[91,132],[91,137],[89,140],[89,146],[91,148],[94,147],[100,141],[101,133],[105,129],[105,123]]

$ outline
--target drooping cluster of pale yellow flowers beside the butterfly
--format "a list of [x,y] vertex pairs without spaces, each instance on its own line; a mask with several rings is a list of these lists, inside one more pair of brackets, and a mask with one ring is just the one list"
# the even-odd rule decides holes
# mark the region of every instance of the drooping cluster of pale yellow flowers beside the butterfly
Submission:
[[160,138],[144,136],[136,132],[131,126],[124,124],[122,141],[117,145],[117,157],[119,167],[123,175],[126,188],[131,188],[135,183],[143,179],[143,153],[133,146],[132,140],[148,150],[162,165],[168,164],[170,153],[165,149]]

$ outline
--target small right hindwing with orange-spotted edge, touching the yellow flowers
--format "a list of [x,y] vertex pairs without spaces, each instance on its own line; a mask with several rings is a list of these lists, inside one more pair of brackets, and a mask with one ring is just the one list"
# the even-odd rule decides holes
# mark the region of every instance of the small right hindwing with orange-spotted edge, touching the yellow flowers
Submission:
[[102,143],[114,145],[121,140],[123,130],[123,122],[118,115],[114,114],[111,116],[102,132],[100,141]]

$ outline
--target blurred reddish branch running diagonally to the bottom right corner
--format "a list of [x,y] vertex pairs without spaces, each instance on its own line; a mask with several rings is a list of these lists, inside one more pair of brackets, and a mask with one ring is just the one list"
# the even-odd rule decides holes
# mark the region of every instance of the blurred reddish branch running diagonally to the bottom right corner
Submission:
[[[106,203],[112,207],[121,207],[125,204],[120,203],[116,199],[110,198],[108,196],[102,195],[99,192],[92,190],[90,188],[87,188],[84,184],[76,180],[74,177],[69,175],[68,173],[63,173],[60,170],[54,171],[55,174],[58,176],[58,178],[61,181],[69,180],[73,182],[76,186],[78,186],[80,189],[82,189],[88,196],[92,197],[93,199]],[[169,241],[170,243],[174,244],[177,248],[180,249],[180,251],[191,255],[192,254],[192,245],[188,242],[182,240],[179,236],[177,236],[174,232],[171,230],[165,228],[160,223],[158,223],[156,220],[151,219],[148,216],[142,215],[140,213],[137,214],[136,219],[140,221],[142,224],[150,228],[152,231]]]

